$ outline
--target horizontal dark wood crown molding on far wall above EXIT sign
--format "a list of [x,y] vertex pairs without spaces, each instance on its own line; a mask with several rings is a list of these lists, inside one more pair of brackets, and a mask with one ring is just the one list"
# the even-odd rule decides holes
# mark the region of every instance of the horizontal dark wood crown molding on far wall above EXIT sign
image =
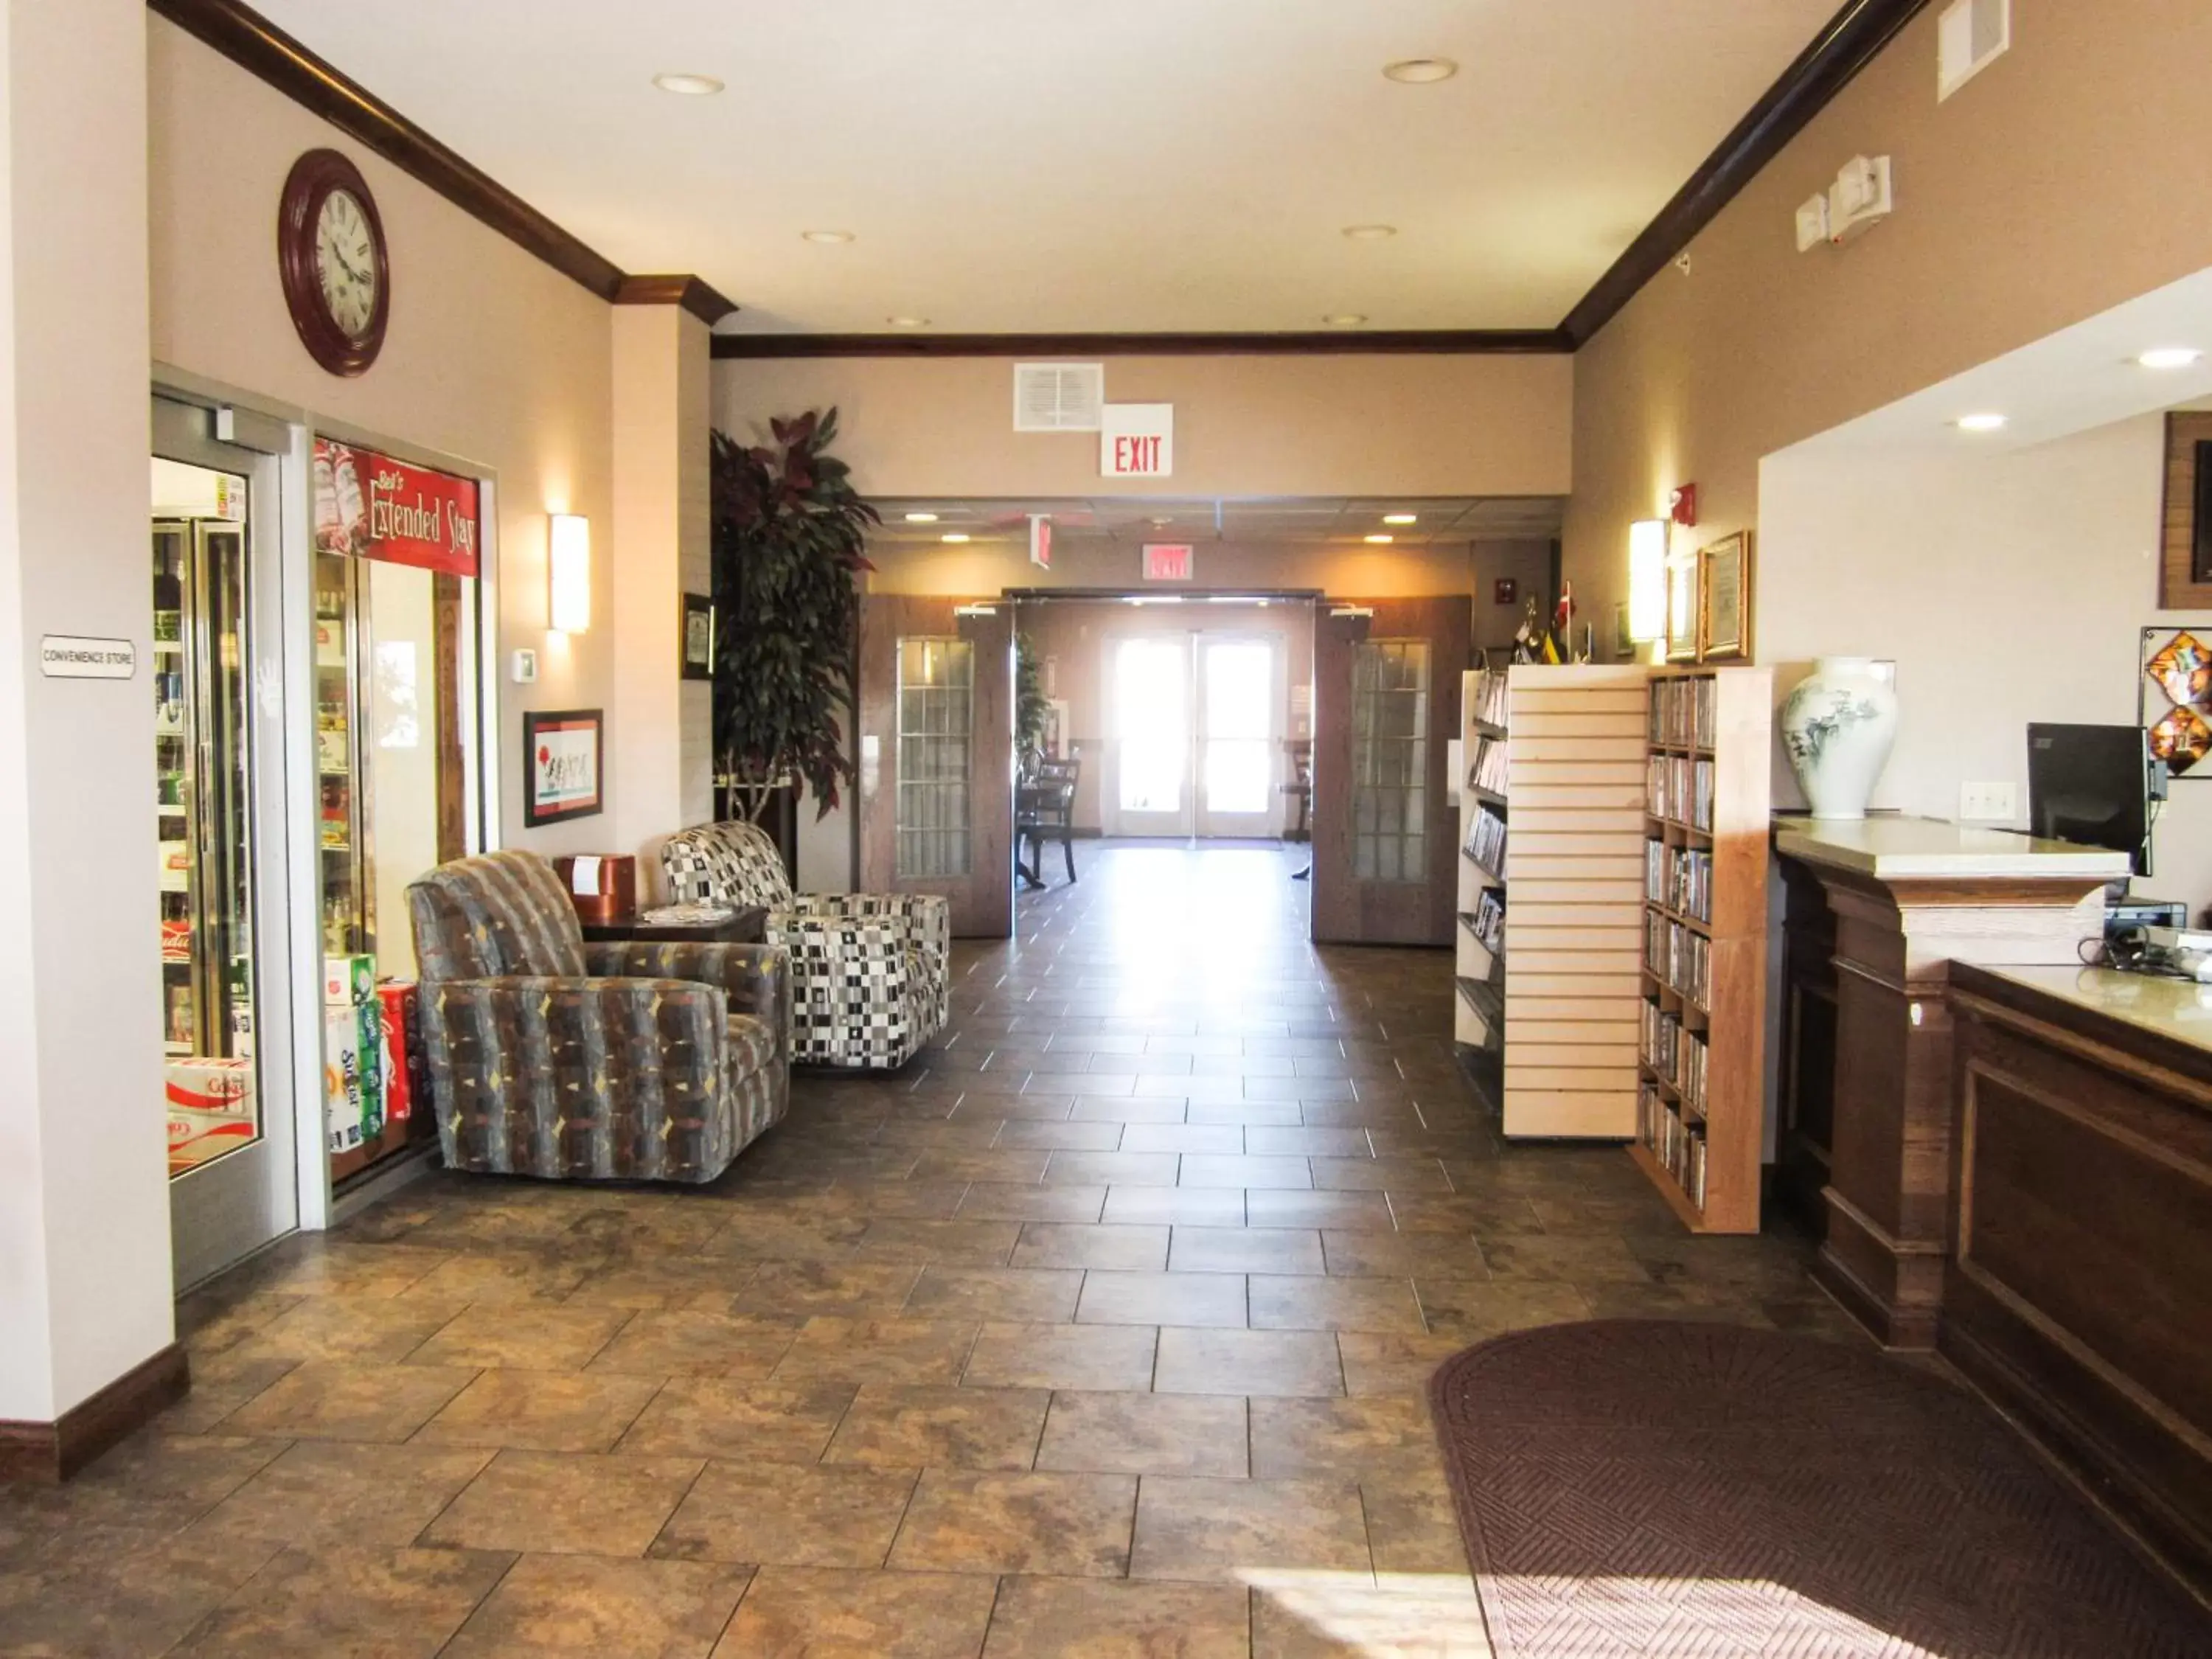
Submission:
[[796,356],[1548,356],[1555,327],[1329,330],[1327,334],[717,334],[719,358]]

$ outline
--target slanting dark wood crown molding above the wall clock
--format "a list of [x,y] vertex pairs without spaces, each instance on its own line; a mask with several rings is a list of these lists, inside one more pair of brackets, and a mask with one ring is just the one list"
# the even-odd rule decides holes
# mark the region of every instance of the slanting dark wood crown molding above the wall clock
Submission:
[[294,104],[321,115],[599,299],[611,301],[619,292],[624,274],[611,259],[449,150],[361,82],[316,58],[243,0],[146,0],[146,9],[223,53]]

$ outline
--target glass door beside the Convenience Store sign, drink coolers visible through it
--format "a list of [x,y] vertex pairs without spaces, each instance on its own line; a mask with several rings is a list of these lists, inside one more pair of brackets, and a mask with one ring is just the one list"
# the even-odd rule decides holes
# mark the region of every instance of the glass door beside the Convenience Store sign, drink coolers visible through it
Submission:
[[[153,812],[177,1285],[299,1225],[272,456],[155,400]],[[148,945],[155,945],[150,938]]]

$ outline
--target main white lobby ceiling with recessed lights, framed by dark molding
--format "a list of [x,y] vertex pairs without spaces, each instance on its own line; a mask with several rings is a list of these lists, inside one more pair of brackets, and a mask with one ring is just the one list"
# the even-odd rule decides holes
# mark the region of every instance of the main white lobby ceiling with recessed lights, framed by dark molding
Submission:
[[[622,268],[710,281],[728,332],[1551,327],[1836,9],[257,2]],[[1383,77],[1420,55],[1462,71]]]

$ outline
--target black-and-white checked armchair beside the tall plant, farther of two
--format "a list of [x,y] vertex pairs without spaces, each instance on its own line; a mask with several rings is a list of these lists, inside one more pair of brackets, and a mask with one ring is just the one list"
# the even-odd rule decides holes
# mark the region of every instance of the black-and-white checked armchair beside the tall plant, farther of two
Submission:
[[661,845],[668,896],[763,905],[768,942],[792,953],[792,1064],[891,1068],[951,1013],[951,907],[920,894],[794,894],[776,845],[750,823],[708,823]]

